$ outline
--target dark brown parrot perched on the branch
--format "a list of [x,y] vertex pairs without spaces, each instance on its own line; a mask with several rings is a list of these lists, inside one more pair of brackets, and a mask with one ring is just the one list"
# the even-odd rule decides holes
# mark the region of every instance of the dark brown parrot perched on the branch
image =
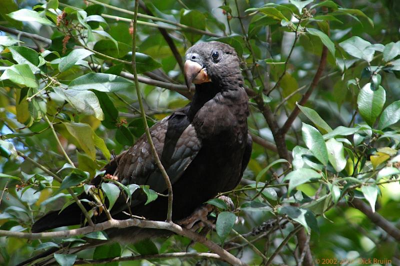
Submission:
[[[189,216],[217,193],[233,189],[251,154],[251,137],[247,131],[248,98],[235,50],[218,41],[198,43],[186,51],[185,59],[186,85],[195,84],[192,101],[150,128],[154,146],[172,183],[173,221]],[[103,170],[117,176],[125,185],[145,184],[167,194],[167,186],[145,135]],[[99,185],[100,181],[101,177],[97,176],[91,183]],[[80,198],[92,200],[86,194]],[[130,203],[134,215],[165,220],[167,197],[159,196],[144,205],[145,201],[146,196],[137,189]],[[86,202],[83,204],[91,208]],[[79,224],[84,218],[76,204],[58,212],[49,212],[37,220],[32,232]],[[120,195],[111,210],[112,217],[126,219],[129,217],[126,212],[125,200]],[[95,222],[105,220],[102,213]],[[131,227],[112,229],[108,234],[115,240],[138,241],[157,235],[156,231]]]

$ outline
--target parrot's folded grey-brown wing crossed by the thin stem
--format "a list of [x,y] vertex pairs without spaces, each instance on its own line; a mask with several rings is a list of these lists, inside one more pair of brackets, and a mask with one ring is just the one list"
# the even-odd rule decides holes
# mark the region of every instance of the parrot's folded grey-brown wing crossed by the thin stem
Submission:
[[[173,184],[201,147],[194,126],[190,124],[184,112],[176,111],[154,124],[150,128],[150,135],[158,157]],[[125,184],[146,184],[160,193],[167,188],[146,135],[141,136],[132,147],[117,158],[114,175]]]

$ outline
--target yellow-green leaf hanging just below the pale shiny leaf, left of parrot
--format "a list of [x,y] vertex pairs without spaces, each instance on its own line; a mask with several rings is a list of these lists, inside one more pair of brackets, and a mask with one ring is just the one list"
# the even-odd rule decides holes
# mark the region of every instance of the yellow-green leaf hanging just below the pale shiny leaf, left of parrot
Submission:
[[96,149],[94,147],[93,130],[90,125],[85,123],[64,122],[68,132],[76,138],[80,147],[93,160],[96,158]]

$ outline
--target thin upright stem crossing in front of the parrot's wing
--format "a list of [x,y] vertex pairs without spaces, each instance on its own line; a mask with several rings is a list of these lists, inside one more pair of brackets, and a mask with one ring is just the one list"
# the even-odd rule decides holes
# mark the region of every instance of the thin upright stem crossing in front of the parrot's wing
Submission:
[[165,184],[168,188],[168,209],[166,213],[166,221],[171,222],[172,221],[172,199],[173,199],[173,194],[172,194],[172,184],[171,181],[169,180],[169,176],[165,171],[164,166],[162,165],[158,154],[157,150],[155,149],[154,143],[151,139],[151,134],[150,130],[148,128],[147,124],[147,119],[146,119],[146,114],[144,112],[144,107],[143,107],[143,101],[141,99],[141,94],[140,94],[140,89],[139,89],[139,81],[137,80],[137,70],[136,70],[136,32],[137,32],[137,9],[139,6],[139,0],[135,0],[134,2],[134,16],[133,16],[133,34],[132,34],[132,69],[133,69],[133,76],[134,76],[134,82],[136,85],[136,94],[137,94],[137,101],[140,106],[140,113],[141,113],[141,118],[143,120],[143,126],[144,126],[144,131],[147,136],[147,141],[148,144],[150,145],[151,148],[151,153],[155,159],[155,163],[158,166],[158,169],[160,170],[162,176],[164,177]]

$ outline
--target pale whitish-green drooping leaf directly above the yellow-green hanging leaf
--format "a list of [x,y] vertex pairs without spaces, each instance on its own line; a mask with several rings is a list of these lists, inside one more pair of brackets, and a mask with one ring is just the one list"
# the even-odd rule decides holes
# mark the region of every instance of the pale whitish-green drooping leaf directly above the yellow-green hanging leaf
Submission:
[[93,115],[99,120],[104,119],[104,114],[96,94],[90,90],[62,89],[54,87],[54,92],[63,97],[78,114]]

